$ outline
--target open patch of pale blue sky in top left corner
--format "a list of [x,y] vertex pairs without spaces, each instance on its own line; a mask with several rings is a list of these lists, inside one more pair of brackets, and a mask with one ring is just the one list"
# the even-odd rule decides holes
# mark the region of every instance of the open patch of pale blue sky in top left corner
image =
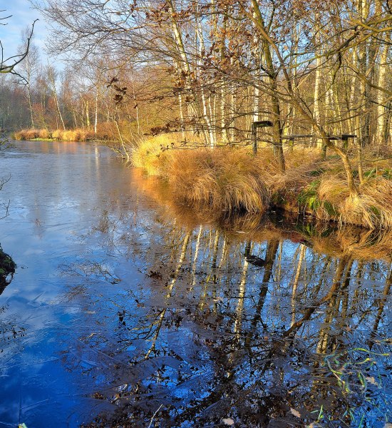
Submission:
[[[39,19],[34,31],[34,43],[40,49],[43,56],[43,48],[46,39],[46,23],[41,14],[34,10],[29,0],[0,0],[0,17],[12,15],[7,19],[6,26],[0,26],[0,40],[4,47],[4,56],[8,58],[16,54],[19,44],[21,43],[21,31],[33,24],[34,19]],[[5,11],[2,11],[5,10]]]

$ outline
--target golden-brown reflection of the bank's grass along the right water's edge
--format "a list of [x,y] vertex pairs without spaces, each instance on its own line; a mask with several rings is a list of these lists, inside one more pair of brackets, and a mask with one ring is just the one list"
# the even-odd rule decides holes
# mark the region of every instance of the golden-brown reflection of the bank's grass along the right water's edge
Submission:
[[200,224],[207,227],[213,224],[231,242],[289,239],[308,243],[317,253],[337,258],[347,255],[361,260],[382,259],[392,262],[392,230],[367,230],[354,225],[338,227],[337,223],[329,224],[317,219],[309,224],[308,229],[306,224],[303,227],[301,223],[293,226],[292,216],[287,217],[287,221],[272,222],[270,217],[262,213],[219,211],[209,207],[195,210],[175,198],[163,180],[146,176],[140,169],[130,170],[130,174],[132,181],[138,183],[138,188],[160,205],[163,220],[172,223],[175,218],[177,227],[193,230]]

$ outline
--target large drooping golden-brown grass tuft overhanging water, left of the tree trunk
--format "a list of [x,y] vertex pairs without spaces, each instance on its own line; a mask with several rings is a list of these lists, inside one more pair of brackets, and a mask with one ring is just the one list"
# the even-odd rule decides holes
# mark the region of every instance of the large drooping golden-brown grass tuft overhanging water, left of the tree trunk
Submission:
[[176,151],[167,180],[178,198],[216,210],[263,212],[269,193],[259,163],[240,149]]

